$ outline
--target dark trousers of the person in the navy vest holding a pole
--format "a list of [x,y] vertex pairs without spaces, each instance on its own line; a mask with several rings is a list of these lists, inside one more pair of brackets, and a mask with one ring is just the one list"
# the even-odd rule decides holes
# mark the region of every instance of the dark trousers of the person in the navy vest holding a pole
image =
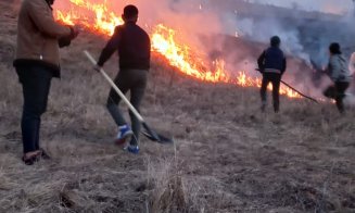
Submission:
[[267,86],[269,83],[271,83],[272,84],[274,110],[275,110],[275,112],[279,112],[279,110],[280,110],[280,80],[281,80],[281,74],[278,74],[278,73],[264,73],[263,74],[263,83],[262,83],[262,89],[261,89],[263,108],[265,108],[265,105],[267,103],[267,97],[266,97]]

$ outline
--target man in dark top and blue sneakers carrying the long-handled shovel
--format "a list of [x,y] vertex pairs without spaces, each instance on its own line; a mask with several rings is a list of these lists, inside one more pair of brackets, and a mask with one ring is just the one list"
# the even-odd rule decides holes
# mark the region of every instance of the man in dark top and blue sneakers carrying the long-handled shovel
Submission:
[[[119,72],[115,77],[115,84],[126,93],[130,90],[130,102],[139,111],[140,103],[147,87],[147,76],[150,68],[151,41],[148,34],[137,25],[138,9],[135,5],[127,5],[122,15],[125,24],[115,28],[105,48],[102,50],[96,70],[99,71],[111,55],[117,51],[119,57]],[[125,121],[117,108],[121,102],[119,96],[111,89],[107,99],[107,110],[118,126],[116,143],[125,143],[130,137],[127,151],[139,153],[139,134],[141,124],[129,111],[131,128]]]

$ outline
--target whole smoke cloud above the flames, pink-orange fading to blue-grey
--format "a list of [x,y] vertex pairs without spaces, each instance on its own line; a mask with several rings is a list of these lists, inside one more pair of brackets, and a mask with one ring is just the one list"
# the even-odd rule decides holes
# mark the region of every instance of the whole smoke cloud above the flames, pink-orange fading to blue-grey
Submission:
[[[313,84],[312,61],[317,67],[327,64],[330,42],[341,41],[346,57],[354,51],[354,12],[348,11],[353,9],[353,3],[351,0],[341,1],[342,3],[338,0],[297,0],[296,3],[291,0],[249,0],[252,3],[243,0],[105,2],[115,14],[122,14],[126,4],[136,4],[140,10],[141,26],[149,30],[157,24],[174,28],[179,42],[204,53],[207,60],[224,57],[227,67],[232,71],[254,70],[256,58],[268,46],[269,38],[278,35],[289,58],[296,58],[290,63],[292,72],[288,75],[292,76],[292,80],[305,85]],[[68,5],[69,0],[56,0],[55,8],[68,9]],[[345,13],[347,15],[343,15]],[[236,36],[239,37],[238,41]]]

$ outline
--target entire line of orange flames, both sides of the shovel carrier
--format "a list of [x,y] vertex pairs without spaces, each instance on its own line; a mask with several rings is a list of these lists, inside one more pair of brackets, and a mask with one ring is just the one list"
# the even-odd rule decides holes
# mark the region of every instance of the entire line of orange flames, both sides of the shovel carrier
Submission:
[[[92,0],[68,0],[69,10],[56,10],[56,18],[68,25],[80,24],[90,30],[111,36],[117,25],[123,21],[111,10],[106,0],[102,3],[94,3]],[[225,61],[218,59],[210,66],[205,65],[207,60],[199,55],[191,47],[177,39],[178,32],[163,24],[152,28],[152,50],[164,55],[172,66],[177,67],[181,73],[195,79],[210,83],[227,83],[241,87],[261,87],[262,79],[248,76],[245,72],[237,72],[232,75],[227,71]],[[271,89],[271,87],[269,87]],[[280,93],[290,98],[301,98],[288,87],[281,86]]]

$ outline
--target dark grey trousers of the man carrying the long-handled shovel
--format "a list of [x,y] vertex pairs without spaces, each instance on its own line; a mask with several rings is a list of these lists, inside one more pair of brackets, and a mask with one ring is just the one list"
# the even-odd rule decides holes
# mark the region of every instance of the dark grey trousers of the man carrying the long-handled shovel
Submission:
[[[130,103],[136,108],[138,112],[147,87],[147,76],[148,71],[144,70],[124,70],[118,73],[114,80],[123,93],[127,93],[127,91],[130,91]],[[106,106],[117,126],[127,124],[122,112],[118,109],[121,100],[122,99],[117,95],[117,92],[114,89],[111,89]],[[141,124],[131,111],[129,111],[129,116],[131,121],[132,131],[135,135],[135,137],[132,137],[130,141],[130,145],[137,146]]]

